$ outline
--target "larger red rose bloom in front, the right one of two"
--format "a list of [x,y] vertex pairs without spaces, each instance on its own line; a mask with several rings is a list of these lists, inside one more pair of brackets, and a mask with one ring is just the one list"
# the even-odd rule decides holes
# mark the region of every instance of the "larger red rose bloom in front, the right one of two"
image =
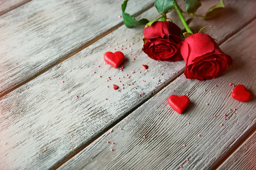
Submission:
[[200,81],[218,77],[232,65],[233,59],[225,54],[208,34],[196,33],[187,37],[180,47],[186,62],[185,76]]

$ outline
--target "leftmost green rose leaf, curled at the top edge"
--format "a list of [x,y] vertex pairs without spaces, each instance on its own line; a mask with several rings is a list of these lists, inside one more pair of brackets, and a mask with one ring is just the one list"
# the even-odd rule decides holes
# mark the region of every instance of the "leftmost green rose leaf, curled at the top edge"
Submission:
[[135,20],[133,16],[130,14],[125,13],[125,8],[127,6],[128,0],[125,0],[124,3],[122,4],[122,17],[124,19],[125,26],[127,28],[131,28],[133,26],[143,26],[147,24],[149,21],[147,19],[141,19],[139,21]]

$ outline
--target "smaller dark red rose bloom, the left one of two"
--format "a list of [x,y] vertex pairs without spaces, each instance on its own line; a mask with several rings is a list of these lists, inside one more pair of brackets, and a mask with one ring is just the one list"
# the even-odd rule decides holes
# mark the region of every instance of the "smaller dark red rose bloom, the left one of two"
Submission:
[[156,21],[151,26],[146,26],[143,31],[143,51],[155,60],[181,60],[180,31],[180,28],[170,21]]

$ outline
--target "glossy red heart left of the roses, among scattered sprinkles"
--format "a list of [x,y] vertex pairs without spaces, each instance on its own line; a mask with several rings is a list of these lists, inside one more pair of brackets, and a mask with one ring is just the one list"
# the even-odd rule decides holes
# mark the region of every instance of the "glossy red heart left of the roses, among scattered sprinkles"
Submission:
[[104,60],[114,68],[118,68],[118,66],[124,61],[125,56],[121,51],[116,51],[112,53],[110,51],[104,54]]

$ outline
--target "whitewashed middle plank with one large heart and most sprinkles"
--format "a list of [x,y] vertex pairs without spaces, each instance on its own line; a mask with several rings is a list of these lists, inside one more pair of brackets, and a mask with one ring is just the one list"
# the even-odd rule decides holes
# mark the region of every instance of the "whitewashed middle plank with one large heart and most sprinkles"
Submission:
[[[236,14],[231,18],[239,17]],[[151,8],[143,13],[143,16],[152,20],[158,17],[158,14]],[[179,20],[175,11],[169,17],[175,22]],[[230,20],[229,17],[224,16],[223,20]],[[223,40],[223,35],[234,33],[253,17],[255,15],[250,14],[246,20],[233,22],[226,27],[225,23],[212,20],[210,22],[215,22],[212,29],[216,30],[213,36]],[[200,28],[203,21],[195,22],[198,22]],[[223,33],[219,36],[217,30]],[[127,115],[162,88],[164,82],[170,82],[175,75],[183,71],[183,61],[156,62],[143,54],[142,32],[143,27],[127,29],[122,26],[113,31],[113,34],[108,34],[1,98],[0,112],[3,114],[0,115],[0,153],[3,157],[0,164],[7,169],[47,169],[54,166]],[[131,45],[132,51],[124,51],[129,60],[124,62],[123,72],[103,64],[103,54],[108,50],[112,51],[116,47],[115,42],[126,47],[134,42],[134,45]],[[108,45],[111,45],[110,49]],[[130,52],[132,56],[128,55]],[[137,58],[133,60],[135,54]],[[97,68],[98,64],[100,68]],[[149,66],[148,72],[141,68],[142,64]],[[93,74],[93,71],[96,71],[96,74]],[[135,74],[131,74],[131,71],[135,71]],[[142,73],[139,74],[138,71]],[[131,75],[130,79],[122,78],[126,73]],[[102,78],[99,78],[99,75]],[[106,82],[107,77],[113,75],[116,77],[111,77],[111,81]],[[122,82],[118,82],[118,77]],[[144,84],[142,79],[146,80]],[[64,83],[61,83],[62,80]],[[126,86],[129,82],[134,82],[134,85]],[[119,86],[124,83],[125,89],[119,93],[113,91],[111,85],[114,83]],[[110,88],[106,88],[107,85]],[[140,98],[138,94],[142,92],[145,95]],[[76,95],[79,96],[78,99]]]

